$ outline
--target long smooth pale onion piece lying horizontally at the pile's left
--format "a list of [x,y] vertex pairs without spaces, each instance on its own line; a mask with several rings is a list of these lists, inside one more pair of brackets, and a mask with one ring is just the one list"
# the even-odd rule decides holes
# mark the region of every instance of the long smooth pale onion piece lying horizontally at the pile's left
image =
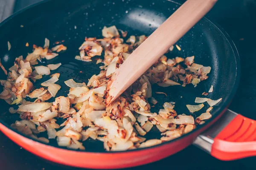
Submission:
[[17,111],[21,112],[39,112],[48,109],[52,106],[52,103],[41,102],[41,103],[31,103],[28,105],[20,105]]

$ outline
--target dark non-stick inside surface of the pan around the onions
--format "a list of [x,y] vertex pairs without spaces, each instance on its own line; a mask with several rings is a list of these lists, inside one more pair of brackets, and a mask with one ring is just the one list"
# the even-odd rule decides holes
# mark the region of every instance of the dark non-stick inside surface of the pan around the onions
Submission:
[[[54,46],[54,42],[64,40],[63,44],[67,46],[67,51],[52,60],[43,60],[40,64],[61,62],[61,67],[51,73],[61,73],[57,82],[61,85],[61,90],[57,96],[67,96],[69,88],[64,81],[72,78],[76,82],[87,83],[93,74],[98,74],[100,71],[100,64],[95,63],[96,58],[99,57],[94,57],[93,62],[81,62],[74,59],[76,55],[79,55],[78,48],[84,42],[85,37],[101,38],[102,28],[112,25],[128,31],[127,37],[142,34],[148,36],[179,6],[167,0],[47,0],[26,11],[19,12],[2,23],[0,26],[0,58],[3,65],[9,68],[16,57],[20,55],[26,57],[28,53],[31,53],[33,44],[43,46],[46,37],[50,40],[50,47]],[[208,91],[211,85],[214,86],[214,91],[207,97],[223,98],[222,102],[212,111],[212,119],[227,107],[237,86],[238,60],[236,51],[234,52],[236,49],[230,45],[224,34],[204,18],[177,42],[181,51],[175,48],[166,54],[167,57],[194,55],[195,63],[211,66],[212,71],[209,78],[199,83],[196,88],[192,84],[185,88],[154,86],[154,91],[164,92],[167,97],[153,93],[158,103],[151,111],[158,112],[164,102],[176,102],[175,110],[178,114],[190,114],[186,105],[195,104],[195,97],[203,97],[202,93]],[[10,51],[8,51],[7,41],[12,45]],[[26,42],[29,43],[29,47],[25,46]],[[3,72],[0,71],[0,73],[0,79],[6,79]],[[47,79],[49,77],[45,76],[34,84],[35,87],[39,87],[41,82]],[[49,101],[52,102],[52,100]],[[19,115],[8,113],[10,105],[5,101],[1,100],[0,105],[0,122],[5,125],[14,123]],[[206,104],[206,107],[193,116],[199,116],[207,108]],[[153,130],[147,138],[159,137],[157,131]],[[57,146],[55,140],[51,140],[50,145]],[[90,139],[85,142],[86,151],[103,151],[103,147],[99,145],[103,146],[101,142],[93,142]]]

